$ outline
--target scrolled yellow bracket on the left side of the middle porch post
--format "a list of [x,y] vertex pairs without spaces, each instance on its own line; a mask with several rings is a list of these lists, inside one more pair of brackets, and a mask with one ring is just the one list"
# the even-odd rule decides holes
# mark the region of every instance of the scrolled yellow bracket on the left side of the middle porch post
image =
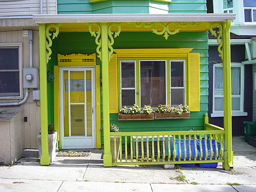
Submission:
[[[97,57],[100,58],[101,60],[101,27],[97,23],[92,23],[92,24],[87,24],[89,26],[89,32],[91,33],[92,36],[96,37],[95,38],[95,44],[97,45],[96,52],[98,53]],[[93,29],[93,27],[95,27]]]

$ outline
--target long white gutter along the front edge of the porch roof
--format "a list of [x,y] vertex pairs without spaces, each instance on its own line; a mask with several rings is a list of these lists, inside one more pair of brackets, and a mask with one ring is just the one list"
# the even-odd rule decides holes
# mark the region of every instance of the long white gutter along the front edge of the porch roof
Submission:
[[236,14],[51,14],[33,15],[40,23],[98,23],[98,22],[224,22]]

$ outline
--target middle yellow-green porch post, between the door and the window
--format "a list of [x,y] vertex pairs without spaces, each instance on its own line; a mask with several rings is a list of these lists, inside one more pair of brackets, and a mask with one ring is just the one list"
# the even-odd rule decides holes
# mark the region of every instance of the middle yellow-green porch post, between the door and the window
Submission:
[[108,24],[101,23],[101,66],[102,66],[102,105],[103,105],[103,137],[104,155],[103,165],[112,166],[110,152],[110,100],[109,100],[109,49],[108,49]]

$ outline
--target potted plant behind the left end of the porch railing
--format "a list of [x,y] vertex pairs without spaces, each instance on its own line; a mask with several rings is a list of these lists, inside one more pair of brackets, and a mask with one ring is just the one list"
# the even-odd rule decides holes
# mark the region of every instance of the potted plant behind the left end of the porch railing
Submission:
[[[116,124],[110,124],[110,132],[119,132],[119,127]],[[115,162],[115,137],[110,137],[110,151],[112,154],[112,162]],[[116,137],[116,160],[119,158],[120,152],[120,137]]]

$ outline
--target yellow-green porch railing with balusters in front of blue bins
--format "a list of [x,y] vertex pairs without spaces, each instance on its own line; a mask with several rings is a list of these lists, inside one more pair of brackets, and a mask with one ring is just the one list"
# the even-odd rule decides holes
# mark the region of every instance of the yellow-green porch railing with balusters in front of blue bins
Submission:
[[[205,116],[204,131],[110,133],[110,136],[114,137],[112,165],[224,162],[225,131],[222,127],[209,124],[207,120]],[[119,159],[118,137],[120,138]],[[123,149],[122,140],[124,140]]]

